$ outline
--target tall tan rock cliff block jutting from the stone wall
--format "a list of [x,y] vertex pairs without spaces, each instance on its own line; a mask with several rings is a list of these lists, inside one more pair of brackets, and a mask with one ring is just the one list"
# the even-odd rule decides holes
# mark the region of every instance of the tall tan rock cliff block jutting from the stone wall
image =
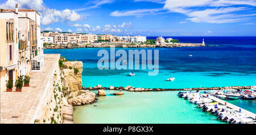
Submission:
[[67,88],[69,97],[76,97],[82,88],[82,62],[63,62],[61,70],[61,82],[63,88]]

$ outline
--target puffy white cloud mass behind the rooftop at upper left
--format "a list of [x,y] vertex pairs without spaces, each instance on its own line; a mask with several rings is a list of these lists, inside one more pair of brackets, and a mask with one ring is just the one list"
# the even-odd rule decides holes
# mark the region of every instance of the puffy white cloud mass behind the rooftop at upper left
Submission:
[[15,8],[16,3],[19,4],[19,8],[35,9],[39,12],[39,14],[42,15],[41,23],[43,25],[56,23],[58,21],[77,21],[85,18],[69,9],[59,11],[53,8],[48,8],[44,5],[43,0],[7,0],[0,5],[0,8]]

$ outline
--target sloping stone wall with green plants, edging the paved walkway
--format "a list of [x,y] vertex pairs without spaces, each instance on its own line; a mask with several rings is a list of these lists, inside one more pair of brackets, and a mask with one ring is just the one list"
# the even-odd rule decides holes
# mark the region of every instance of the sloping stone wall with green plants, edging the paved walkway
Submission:
[[67,101],[62,92],[59,58],[60,55],[56,59],[53,70],[47,75],[48,80],[43,82],[46,83],[46,90],[41,93],[40,104],[30,123],[63,123],[63,108]]

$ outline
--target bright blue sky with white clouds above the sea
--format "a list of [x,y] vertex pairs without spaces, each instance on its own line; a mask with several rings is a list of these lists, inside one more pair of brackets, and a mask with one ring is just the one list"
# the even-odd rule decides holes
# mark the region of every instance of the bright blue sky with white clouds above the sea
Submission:
[[33,8],[41,31],[118,36],[256,36],[256,0],[0,0]]

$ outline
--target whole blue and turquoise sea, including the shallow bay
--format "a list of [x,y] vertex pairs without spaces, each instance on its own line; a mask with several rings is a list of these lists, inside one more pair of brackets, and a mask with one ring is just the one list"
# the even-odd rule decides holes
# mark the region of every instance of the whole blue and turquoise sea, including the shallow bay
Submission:
[[[164,37],[168,38],[168,37]],[[127,53],[127,69],[111,69],[120,56],[111,58],[110,48],[45,49],[44,54],[61,54],[68,60],[83,62],[82,85],[134,86],[141,88],[200,88],[256,85],[256,37],[171,37],[183,43],[205,42],[206,47],[172,48],[115,48]],[[147,37],[156,39],[156,37]],[[142,68],[142,58],[129,60],[129,51],[158,53],[158,74],[148,76],[152,69]],[[107,52],[109,63],[99,69],[99,52]],[[99,53],[100,54],[100,53]],[[192,55],[192,56],[189,56]],[[113,60],[114,59],[114,60]],[[147,59],[147,60],[148,60]],[[139,63],[139,69],[130,69],[129,63]],[[133,71],[135,76],[129,76]],[[166,81],[175,77],[174,81]],[[106,90],[106,97],[97,103],[76,106],[75,123],[222,123],[216,117],[177,97],[177,92],[125,92]],[[228,101],[256,113],[256,101],[242,99]]]

